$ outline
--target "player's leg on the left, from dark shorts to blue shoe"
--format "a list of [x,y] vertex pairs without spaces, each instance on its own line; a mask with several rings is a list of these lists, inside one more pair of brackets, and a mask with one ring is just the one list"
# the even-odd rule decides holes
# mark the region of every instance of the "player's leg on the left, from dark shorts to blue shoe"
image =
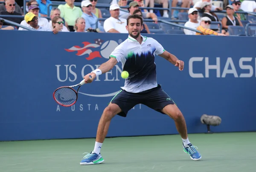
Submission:
[[94,149],[91,153],[87,153],[87,155],[84,156],[80,165],[100,164],[104,162],[104,159],[100,154],[100,150],[102,148],[103,141],[108,134],[111,119],[116,114],[126,117],[128,111],[138,104],[137,102],[136,96],[131,95],[131,93],[128,93],[125,90],[121,90],[113,97],[111,102],[108,104],[108,107],[103,111],[99,120]]

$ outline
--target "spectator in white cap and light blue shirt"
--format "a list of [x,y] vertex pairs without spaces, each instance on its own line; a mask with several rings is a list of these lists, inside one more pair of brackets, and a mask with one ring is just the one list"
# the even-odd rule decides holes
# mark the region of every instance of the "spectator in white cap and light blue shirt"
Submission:
[[83,0],[81,2],[81,7],[83,10],[82,17],[85,20],[85,30],[88,28],[96,29],[96,23],[98,24],[98,28],[100,31],[104,31],[102,25],[98,21],[98,17],[96,17],[95,14],[92,13],[93,6],[92,3],[89,0]]

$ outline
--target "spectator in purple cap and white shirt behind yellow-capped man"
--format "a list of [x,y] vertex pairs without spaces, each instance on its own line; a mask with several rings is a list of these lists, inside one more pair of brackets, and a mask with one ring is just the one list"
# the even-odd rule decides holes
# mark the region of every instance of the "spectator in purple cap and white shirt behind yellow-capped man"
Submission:
[[[29,6],[29,12],[35,14],[35,16],[38,17],[39,7],[37,5],[35,5],[35,4],[31,5],[31,6]],[[23,20],[20,23],[20,25],[29,27],[29,24],[26,22],[26,20]],[[50,29],[49,21],[46,18],[38,17],[38,25],[39,25],[39,27]],[[24,31],[26,29],[20,27],[19,30],[20,31]]]

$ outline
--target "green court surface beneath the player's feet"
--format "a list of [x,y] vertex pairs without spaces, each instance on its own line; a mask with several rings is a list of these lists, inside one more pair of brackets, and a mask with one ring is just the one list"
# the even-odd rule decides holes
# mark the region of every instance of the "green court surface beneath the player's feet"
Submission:
[[0,142],[0,172],[256,172],[256,132],[189,134],[201,161],[179,135],[106,138],[103,164],[81,166],[95,139]]

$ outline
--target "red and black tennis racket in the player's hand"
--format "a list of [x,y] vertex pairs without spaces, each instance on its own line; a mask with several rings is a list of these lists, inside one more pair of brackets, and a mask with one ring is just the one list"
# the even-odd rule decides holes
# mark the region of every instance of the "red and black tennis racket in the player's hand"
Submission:
[[[92,78],[92,76],[90,76],[90,78]],[[77,101],[79,88],[84,84],[85,80],[83,79],[77,85],[58,87],[53,92],[53,99],[61,106],[72,106]],[[73,87],[78,87],[77,91]]]

